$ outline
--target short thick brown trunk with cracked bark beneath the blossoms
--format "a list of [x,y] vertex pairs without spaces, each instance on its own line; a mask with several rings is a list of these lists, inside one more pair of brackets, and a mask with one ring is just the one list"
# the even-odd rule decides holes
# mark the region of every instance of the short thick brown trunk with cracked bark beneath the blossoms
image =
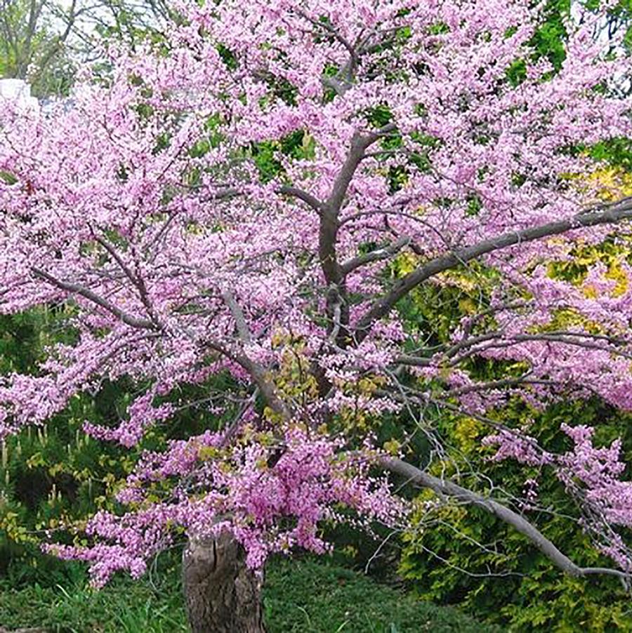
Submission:
[[182,563],[192,633],[265,633],[262,579],[246,567],[244,549],[232,535],[190,540]]

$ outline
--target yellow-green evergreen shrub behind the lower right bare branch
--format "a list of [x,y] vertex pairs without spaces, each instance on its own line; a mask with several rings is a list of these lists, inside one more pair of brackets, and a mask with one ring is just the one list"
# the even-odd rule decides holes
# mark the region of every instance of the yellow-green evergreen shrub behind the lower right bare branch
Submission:
[[[546,448],[564,451],[570,441],[558,429],[562,422],[596,426],[596,441],[609,444],[622,436],[632,457],[629,416],[621,417],[598,401],[560,403],[537,413],[512,403],[494,415],[499,422],[518,426],[531,419],[529,433]],[[455,462],[470,466],[492,481],[502,482],[508,494],[520,495],[536,469],[515,462],[488,462],[489,450],[480,439],[489,429],[475,419],[443,416],[439,433],[454,447]],[[562,552],[581,566],[608,566],[595,552],[577,523],[577,509],[551,473],[539,476],[538,511],[527,511],[532,521]],[[466,485],[476,487],[474,480]],[[400,572],[421,598],[458,603],[478,618],[516,631],[572,632],[632,631],[629,595],[609,577],[572,578],[553,567],[525,537],[489,513],[447,505],[431,509],[433,495],[417,500],[416,529],[404,537]],[[542,508],[554,507],[558,514]],[[484,547],[481,547],[483,545]]]

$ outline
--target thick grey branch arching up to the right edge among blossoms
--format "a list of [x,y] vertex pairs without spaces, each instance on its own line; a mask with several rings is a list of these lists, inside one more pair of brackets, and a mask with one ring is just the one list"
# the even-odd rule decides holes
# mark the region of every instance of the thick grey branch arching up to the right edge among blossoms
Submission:
[[478,257],[482,255],[505,249],[522,242],[541,240],[543,237],[567,233],[567,231],[574,229],[617,223],[629,218],[632,218],[632,198],[624,198],[624,200],[620,200],[606,209],[600,207],[593,211],[577,214],[567,220],[550,222],[541,226],[503,233],[502,235],[492,237],[478,244],[463,247],[452,253],[431,259],[422,266],[419,266],[419,268],[413,270],[412,273],[398,280],[388,294],[374,302],[371,308],[369,308],[369,311],[367,311],[358,322],[355,339],[358,342],[362,341],[367,337],[367,334],[369,334],[374,322],[386,316],[393,309],[395,304],[397,304],[397,301],[400,301],[402,297],[406,296],[422,282],[430,279],[434,275],[445,272],[445,270],[456,268],[456,266],[473,259],[478,259]]

